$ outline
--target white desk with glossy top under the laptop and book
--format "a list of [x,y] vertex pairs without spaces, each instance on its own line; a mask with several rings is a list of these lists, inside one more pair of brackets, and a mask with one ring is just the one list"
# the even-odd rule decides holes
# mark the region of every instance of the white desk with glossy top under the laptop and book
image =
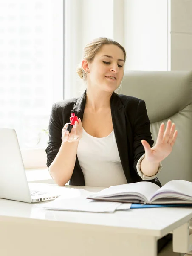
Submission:
[[[69,195],[68,189],[51,186]],[[75,186],[67,186],[77,188]],[[101,188],[78,187],[89,191]],[[71,190],[73,191],[74,190]],[[81,193],[78,190],[75,194]],[[77,195],[76,194],[76,195]],[[0,199],[0,256],[156,256],[157,239],[173,231],[176,245],[192,208],[130,209],[115,213],[65,212]],[[180,228],[179,228],[180,227]],[[179,230],[180,229],[180,230]],[[175,246],[176,246],[175,245]]]

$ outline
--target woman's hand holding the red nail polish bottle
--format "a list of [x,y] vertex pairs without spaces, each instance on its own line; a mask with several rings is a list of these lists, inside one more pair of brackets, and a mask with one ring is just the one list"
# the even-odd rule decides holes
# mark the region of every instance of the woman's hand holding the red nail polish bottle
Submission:
[[66,131],[68,124],[69,123],[66,123],[62,128],[62,136],[61,136],[62,141],[63,142],[79,141],[82,137],[82,131],[83,131],[81,119],[79,118],[78,122],[77,121],[75,122],[75,125],[73,125],[73,128],[71,129],[70,133],[69,131]]

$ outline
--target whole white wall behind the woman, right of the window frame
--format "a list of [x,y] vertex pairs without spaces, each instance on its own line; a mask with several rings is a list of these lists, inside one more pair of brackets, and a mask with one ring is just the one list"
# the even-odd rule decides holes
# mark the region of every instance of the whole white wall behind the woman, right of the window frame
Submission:
[[192,70],[192,0],[65,0],[65,98],[85,45],[106,36],[127,52],[125,70]]

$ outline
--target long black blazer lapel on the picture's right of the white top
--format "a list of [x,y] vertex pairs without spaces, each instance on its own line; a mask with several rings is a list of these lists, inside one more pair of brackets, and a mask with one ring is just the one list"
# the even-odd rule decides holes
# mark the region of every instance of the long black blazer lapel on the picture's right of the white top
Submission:
[[127,127],[124,105],[119,99],[118,94],[113,93],[111,96],[111,115],[113,129],[116,138],[119,157],[128,183],[132,182],[129,168],[128,145],[127,145]]

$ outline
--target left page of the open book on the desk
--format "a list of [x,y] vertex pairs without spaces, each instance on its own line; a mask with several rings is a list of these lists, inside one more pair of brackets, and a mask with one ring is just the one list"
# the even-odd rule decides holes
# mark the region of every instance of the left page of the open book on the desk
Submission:
[[111,186],[104,189],[94,195],[90,195],[89,198],[99,199],[106,198],[110,200],[113,196],[124,195],[124,199],[129,199],[129,195],[133,198],[133,195],[137,195],[142,201],[148,202],[152,195],[159,189],[159,186],[148,181],[140,181],[136,183],[129,183],[117,186]]

